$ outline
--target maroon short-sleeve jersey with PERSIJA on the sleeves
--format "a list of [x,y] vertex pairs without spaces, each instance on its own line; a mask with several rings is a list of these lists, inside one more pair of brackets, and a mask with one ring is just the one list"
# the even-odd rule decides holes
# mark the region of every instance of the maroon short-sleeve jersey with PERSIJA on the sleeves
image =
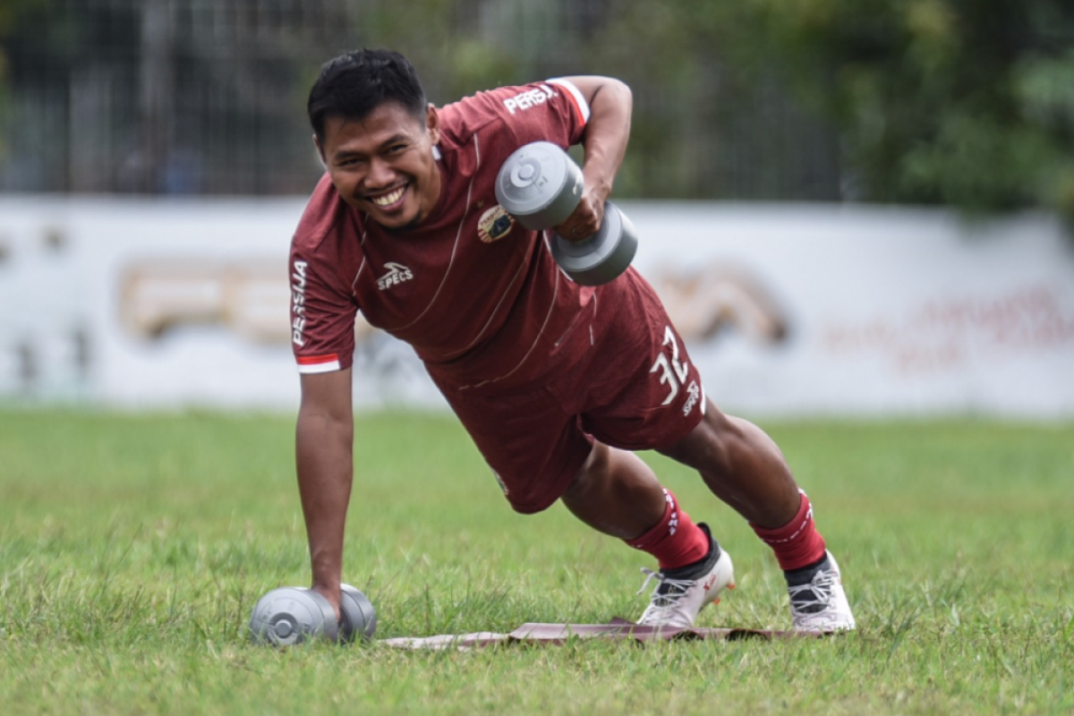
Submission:
[[581,141],[589,105],[564,79],[480,92],[439,109],[441,194],[416,229],[388,232],[325,174],[291,244],[292,348],[302,372],[352,365],[354,321],[410,344],[441,385],[541,376],[593,298],[547,238],[498,205],[499,167],[524,144]]

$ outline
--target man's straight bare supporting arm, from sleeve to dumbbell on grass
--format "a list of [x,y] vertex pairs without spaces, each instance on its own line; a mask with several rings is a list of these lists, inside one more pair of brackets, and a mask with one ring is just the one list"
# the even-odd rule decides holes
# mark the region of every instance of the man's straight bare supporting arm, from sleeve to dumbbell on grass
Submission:
[[328,598],[338,616],[344,527],[354,472],[351,368],[303,375],[301,380],[295,462],[313,588]]

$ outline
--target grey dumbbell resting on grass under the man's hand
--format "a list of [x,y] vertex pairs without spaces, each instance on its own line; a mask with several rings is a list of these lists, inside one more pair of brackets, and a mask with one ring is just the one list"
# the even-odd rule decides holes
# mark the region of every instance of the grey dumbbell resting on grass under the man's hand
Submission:
[[377,629],[377,613],[364,594],[340,585],[338,622],[329,600],[305,587],[273,589],[253,607],[250,615],[250,641],[255,644],[290,646],[307,639],[351,642],[371,639]]

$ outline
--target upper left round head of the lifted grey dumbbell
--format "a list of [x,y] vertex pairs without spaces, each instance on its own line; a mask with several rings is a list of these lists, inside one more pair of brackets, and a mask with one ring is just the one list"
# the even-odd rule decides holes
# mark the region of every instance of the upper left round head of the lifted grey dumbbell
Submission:
[[551,142],[517,149],[496,175],[496,201],[531,231],[562,223],[581,199],[582,170]]

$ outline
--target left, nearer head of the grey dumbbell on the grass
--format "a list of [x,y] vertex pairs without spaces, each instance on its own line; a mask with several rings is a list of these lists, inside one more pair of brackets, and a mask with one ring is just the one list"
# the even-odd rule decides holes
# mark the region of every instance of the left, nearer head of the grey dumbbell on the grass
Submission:
[[329,600],[313,589],[273,589],[253,607],[250,640],[256,644],[290,646],[313,637],[335,641],[339,625]]

